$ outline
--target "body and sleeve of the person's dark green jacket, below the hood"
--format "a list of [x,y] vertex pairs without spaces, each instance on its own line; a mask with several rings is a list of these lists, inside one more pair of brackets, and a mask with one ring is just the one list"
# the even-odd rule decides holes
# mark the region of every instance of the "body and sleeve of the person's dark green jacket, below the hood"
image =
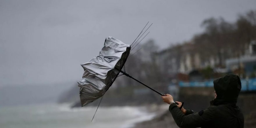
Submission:
[[229,105],[209,106],[195,113],[187,110],[184,115],[176,104],[169,106],[173,119],[179,127],[184,128],[243,128],[243,114],[238,107]]

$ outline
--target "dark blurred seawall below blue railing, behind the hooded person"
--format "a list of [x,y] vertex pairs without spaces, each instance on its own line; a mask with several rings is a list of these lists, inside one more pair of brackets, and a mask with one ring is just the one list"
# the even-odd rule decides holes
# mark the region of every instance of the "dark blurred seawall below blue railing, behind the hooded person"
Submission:
[[[204,110],[214,99],[213,87],[182,87],[179,90],[179,101],[184,102],[185,109]],[[237,105],[244,114],[256,112],[256,92],[240,93]]]

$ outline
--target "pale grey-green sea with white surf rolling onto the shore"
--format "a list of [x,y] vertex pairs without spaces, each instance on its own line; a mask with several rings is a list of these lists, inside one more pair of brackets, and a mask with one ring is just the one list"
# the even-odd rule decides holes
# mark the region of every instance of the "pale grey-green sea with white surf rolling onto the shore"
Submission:
[[130,128],[154,118],[145,106],[71,108],[71,104],[0,107],[0,128]]

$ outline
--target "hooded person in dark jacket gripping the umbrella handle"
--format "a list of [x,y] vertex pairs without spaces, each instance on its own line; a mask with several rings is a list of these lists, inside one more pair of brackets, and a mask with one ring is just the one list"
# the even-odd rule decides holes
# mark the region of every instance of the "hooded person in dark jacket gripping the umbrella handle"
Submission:
[[211,106],[198,113],[182,109],[169,94],[162,96],[163,101],[170,104],[169,111],[179,127],[185,128],[243,128],[243,114],[236,106],[237,97],[241,90],[241,81],[237,75],[228,74],[214,80],[215,97]]

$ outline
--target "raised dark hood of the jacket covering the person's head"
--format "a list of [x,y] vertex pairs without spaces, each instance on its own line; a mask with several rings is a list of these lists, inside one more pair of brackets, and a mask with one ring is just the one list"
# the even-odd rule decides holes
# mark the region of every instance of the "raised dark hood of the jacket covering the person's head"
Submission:
[[217,94],[213,105],[236,104],[241,90],[241,80],[237,75],[227,74],[224,77],[213,81],[214,89]]

